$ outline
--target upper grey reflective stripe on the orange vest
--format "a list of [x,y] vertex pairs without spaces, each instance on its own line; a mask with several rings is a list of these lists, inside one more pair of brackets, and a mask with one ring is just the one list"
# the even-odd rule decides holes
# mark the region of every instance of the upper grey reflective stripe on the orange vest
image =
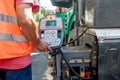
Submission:
[[11,23],[14,23],[14,24],[18,24],[18,20],[14,16],[8,16],[8,15],[0,14],[0,20],[5,21],[5,22],[11,22]]

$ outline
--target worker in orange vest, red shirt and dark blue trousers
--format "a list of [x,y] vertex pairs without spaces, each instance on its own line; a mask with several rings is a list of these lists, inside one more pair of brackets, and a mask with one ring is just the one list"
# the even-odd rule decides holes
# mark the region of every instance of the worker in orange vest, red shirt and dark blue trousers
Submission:
[[39,38],[36,0],[0,0],[0,80],[32,80],[31,51],[51,48]]

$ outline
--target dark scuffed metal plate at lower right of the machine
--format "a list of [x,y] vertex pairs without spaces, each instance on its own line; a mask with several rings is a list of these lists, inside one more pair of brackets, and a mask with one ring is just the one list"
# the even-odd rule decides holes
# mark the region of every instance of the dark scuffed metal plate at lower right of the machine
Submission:
[[99,43],[98,80],[120,80],[120,39]]

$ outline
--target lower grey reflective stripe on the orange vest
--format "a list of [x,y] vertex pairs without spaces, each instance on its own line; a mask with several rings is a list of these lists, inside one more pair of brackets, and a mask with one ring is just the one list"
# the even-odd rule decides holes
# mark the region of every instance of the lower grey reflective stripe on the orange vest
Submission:
[[18,41],[18,42],[24,42],[28,41],[25,36],[18,36],[13,34],[0,34],[0,40],[9,40],[9,41]]

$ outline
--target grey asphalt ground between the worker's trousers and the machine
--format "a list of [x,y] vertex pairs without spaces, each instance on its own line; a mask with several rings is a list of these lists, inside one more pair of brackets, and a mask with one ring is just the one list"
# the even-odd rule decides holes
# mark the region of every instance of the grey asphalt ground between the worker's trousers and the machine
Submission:
[[48,67],[48,53],[32,53],[32,80],[53,80],[50,72],[52,67]]

